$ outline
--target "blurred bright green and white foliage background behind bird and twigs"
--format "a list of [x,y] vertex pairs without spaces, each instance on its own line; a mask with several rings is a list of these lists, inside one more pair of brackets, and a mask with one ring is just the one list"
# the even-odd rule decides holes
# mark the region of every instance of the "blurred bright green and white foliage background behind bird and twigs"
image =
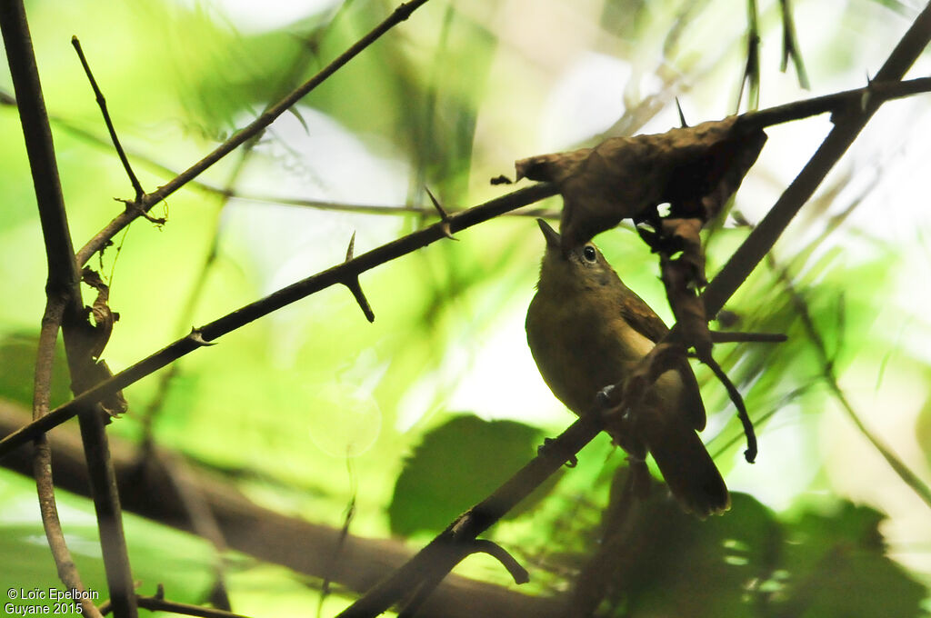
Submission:
[[[760,40],[759,91],[744,88],[740,111],[864,86],[921,8],[795,0],[800,79],[796,63],[780,71],[782,6],[431,0],[258,141],[156,207],[165,225],[135,222],[88,263],[111,285],[120,314],[103,357],[124,369],[192,326],[341,262],[353,233],[359,254],[435,222],[425,186],[448,210],[468,208],[510,190],[489,180],[513,178],[516,159],[678,126],[677,97],[691,124],[735,113],[749,7]],[[121,210],[114,198],[131,198],[132,190],[74,56],[73,34],[151,191],[394,7],[382,0],[27,2],[75,247]],[[2,64],[0,397],[25,410],[46,272],[6,57]],[[925,52],[910,75],[929,70]],[[708,233],[709,276],[830,127],[825,115],[767,130],[735,197],[739,217]],[[657,506],[701,543],[656,536],[641,549],[654,575],[618,585],[604,615],[931,610],[929,134],[927,95],[884,105],[728,303],[732,329],[789,335],[777,346],[716,349],[757,422],[758,461],[743,461],[734,407],[696,367],[709,416],[703,437],[736,492],[735,508],[703,525]],[[558,215],[560,207],[557,197],[529,209]],[[327,289],[185,356],[126,391],[130,411],[111,435],[129,444],[149,437],[280,514],[412,549],[425,544],[529,460],[543,437],[573,421],[526,346],[523,319],[543,239],[522,214],[362,275],[373,324],[346,289]],[[622,226],[597,242],[670,322],[657,263],[637,235]],[[66,378],[56,396],[68,398]],[[875,442],[911,470],[911,485]],[[490,538],[531,571],[519,592],[572,588],[598,545],[624,463],[601,436],[577,468],[492,529]],[[105,590],[92,504],[63,491],[59,500],[86,584]],[[32,480],[0,470],[0,504],[0,583],[58,585]],[[146,594],[162,582],[169,598],[206,602],[217,578],[209,543],[129,514],[127,533]],[[709,572],[721,576],[673,576],[692,556],[686,545],[704,547],[702,559],[718,569]],[[456,572],[516,589],[491,558],[469,558]],[[327,587],[236,553],[226,557],[223,579],[234,611],[262,616],[318,611]],[[354,598],[343,592],[337,585],[325,595],[322,615]]]

